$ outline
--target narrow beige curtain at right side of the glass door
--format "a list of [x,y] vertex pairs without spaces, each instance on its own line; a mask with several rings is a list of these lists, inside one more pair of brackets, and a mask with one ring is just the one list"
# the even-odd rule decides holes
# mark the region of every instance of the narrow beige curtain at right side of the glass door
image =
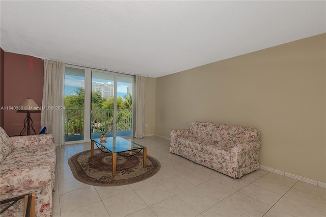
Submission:
[[136,75],[136,129],[135,138],[144,137],[145,77]]

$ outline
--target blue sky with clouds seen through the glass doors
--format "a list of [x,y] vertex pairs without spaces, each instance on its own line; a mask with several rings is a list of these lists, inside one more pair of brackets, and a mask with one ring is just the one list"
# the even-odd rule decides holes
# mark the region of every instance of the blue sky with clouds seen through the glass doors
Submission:
[[[75,75],[65,75],[65,96],[70,96],[72,93],[75,93],[75,90],[77,88],[80,88],[82,86],[82,80],[84,80],[85,77],[81,76],[75,76]],[[103,80],[103,79],[97,79],[93,78],[92,79],[94,82],[111,82],[112,84],[114,83],[113,80]],[[124,95],[127,95],[127,87],[130,86],[129,83],[123,83],[123,82],[118,82],[117,83],[117,96],[120,96],[123,98]],[[130,90],[132,93],[132,90]]]

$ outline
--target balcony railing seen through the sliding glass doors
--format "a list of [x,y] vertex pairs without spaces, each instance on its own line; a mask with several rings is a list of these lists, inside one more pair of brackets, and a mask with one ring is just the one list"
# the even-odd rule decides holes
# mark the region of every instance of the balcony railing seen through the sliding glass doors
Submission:
[[[91,133],[113,132],[114,110],[93,109],[91,115]],[[132,128],[132,110],[117,110],[117,132],[130,131]],[[66,108],[65,136],[84,134],[84,109]],[[91,135],[91,138],[92,135]]]

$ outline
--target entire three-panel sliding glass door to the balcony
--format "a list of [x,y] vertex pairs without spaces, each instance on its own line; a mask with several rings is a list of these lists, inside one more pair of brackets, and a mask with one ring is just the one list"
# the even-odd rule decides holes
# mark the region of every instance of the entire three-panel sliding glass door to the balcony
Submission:
[[132,137],[132,92],[131,75],[67,66],[65,141]]

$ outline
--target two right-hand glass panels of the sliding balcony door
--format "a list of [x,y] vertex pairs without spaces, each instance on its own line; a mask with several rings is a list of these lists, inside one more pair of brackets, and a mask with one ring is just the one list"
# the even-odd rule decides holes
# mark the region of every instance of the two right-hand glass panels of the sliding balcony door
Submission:
[[131,137],[132,135],[132,84],[131,76],[92,71],[91,135],[99,138]]

